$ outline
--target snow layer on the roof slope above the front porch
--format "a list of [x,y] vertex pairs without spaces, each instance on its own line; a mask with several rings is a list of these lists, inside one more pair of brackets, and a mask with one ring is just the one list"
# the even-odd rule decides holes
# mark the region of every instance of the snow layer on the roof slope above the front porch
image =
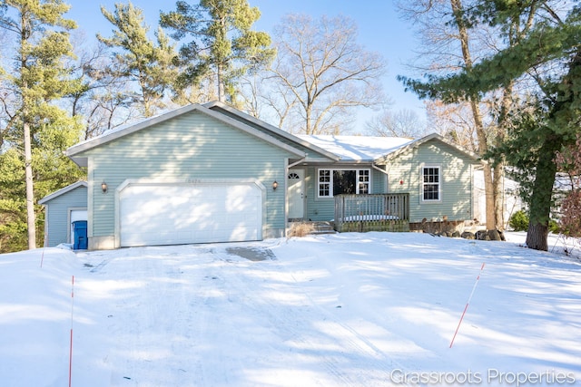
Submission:
[[409,145],[403,137],[297,135],[302,140],[340,156],[341,160],[373,161]]

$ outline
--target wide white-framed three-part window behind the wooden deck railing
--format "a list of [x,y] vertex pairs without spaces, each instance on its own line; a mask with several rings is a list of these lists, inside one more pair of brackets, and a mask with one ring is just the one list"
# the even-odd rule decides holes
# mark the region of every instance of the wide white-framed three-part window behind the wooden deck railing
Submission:
[[368,194],[370,169],[319,169],[318,197],[340,194]]

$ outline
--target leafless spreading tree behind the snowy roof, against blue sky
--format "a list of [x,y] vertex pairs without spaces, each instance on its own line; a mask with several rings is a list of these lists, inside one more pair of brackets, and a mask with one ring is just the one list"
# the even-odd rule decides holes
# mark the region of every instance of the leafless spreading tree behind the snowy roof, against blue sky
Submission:
[[385,61],[357,43],[350,18],[288,15],[275,35],[278,57],[271,72],[284,97],[278,111],[294,111],[300,131],[338,132],[354,108],[385,102],[379,87]]

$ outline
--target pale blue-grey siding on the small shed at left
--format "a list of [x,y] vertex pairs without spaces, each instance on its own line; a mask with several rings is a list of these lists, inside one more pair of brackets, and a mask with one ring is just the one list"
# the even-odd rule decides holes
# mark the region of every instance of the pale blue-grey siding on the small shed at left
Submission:
[[77,187],[44,203],[45,238],[48,247],[69,243],[69,213],[72,209],[87,208],[87,189]]

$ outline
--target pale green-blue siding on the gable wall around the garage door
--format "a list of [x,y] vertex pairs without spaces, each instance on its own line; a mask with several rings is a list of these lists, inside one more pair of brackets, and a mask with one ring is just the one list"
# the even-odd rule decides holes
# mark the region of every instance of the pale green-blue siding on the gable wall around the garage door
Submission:
[[[89,238],[114,235],[114,191],[125,179],[195,180],[254,179],[267,188],[264,235],[283,230],[284,181],[291,153],[251,134],[202,114],[182,114],[169,121],[105,143],[88,157],[93,182],[89,208]],[[101,183],[108,192],[103,194]]]

